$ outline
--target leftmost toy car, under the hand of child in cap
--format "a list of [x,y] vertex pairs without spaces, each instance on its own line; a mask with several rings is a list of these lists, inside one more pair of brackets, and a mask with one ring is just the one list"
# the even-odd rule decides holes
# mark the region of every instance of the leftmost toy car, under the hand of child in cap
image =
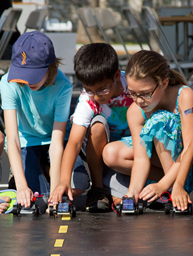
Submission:
[[40,215],[40,206],[35,204],[35,201],[31,203],[31,206],[26,207],[21,206],[21,204],[15,204],[13,206],[13,215],[19,216],[20,214],[36,214]]

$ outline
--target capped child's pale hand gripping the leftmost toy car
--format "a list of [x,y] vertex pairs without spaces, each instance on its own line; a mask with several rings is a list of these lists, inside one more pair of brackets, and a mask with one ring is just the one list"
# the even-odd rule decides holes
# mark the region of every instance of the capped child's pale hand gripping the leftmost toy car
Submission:
[[33,198],[34,194],[28,186],[17,189],[17,202],[18,204],[21,204],[21,206],[25,206],[25,208],[31,206]]

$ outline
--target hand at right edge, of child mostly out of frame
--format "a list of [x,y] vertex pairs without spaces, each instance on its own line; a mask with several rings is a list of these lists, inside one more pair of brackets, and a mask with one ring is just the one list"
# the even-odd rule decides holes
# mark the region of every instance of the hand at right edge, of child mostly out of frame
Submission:
[[174,207],[177,207],[178,210],[186,210],[187,209],[187,202],[192,204],[189,195],[184,190],[183,186],[180,185],[173,185],[172,189],[172,203]]

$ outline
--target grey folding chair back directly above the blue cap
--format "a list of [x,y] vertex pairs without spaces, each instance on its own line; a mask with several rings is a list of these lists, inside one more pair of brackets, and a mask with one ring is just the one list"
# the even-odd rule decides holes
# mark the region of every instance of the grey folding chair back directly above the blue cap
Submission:
[[42,9],[36,9],[33,10],[28,17],[28,20],[26,21],[26,28],[24,33],[28,30],[28,28],[39,30],[42,28],[45,22],[45,18],[48,15],[48,9],[42,8]]

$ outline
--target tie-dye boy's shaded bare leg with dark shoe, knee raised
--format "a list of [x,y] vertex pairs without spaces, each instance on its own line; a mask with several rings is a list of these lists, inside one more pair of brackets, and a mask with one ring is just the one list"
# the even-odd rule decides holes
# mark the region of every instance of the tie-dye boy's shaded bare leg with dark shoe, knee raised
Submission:
[[102,151],[106,144],[107,135],[104,124],[94,122],[86,145],[86,161],[92,180],[91,190],[88,191],[86,198],[86,211],[88,212],[105,212],[109,209],[109,192],[104,189],[102,181],[104,169]]

